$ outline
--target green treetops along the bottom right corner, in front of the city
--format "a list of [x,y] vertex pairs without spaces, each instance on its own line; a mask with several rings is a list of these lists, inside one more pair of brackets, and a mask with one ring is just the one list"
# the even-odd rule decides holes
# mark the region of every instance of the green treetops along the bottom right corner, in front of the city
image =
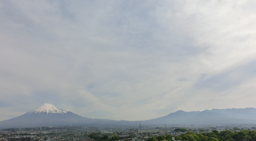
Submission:
[[254,130],[243,130],[240,132],[233,131],[219,131],[214,130],[208,133],[194,133],[186,132],[180,136],[166,135],[166,136],[156,136],[149,137],[147,141],[171,141],[172,137],[175,137],[175,140],[183,141],[256,141],[256,132]]

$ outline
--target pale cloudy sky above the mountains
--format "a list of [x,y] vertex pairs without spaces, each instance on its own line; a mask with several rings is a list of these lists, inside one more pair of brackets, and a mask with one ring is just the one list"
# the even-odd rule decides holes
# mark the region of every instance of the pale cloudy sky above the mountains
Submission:
[[149,120],[256,108],[255,1],[0,1],[0,121],[44,103]]

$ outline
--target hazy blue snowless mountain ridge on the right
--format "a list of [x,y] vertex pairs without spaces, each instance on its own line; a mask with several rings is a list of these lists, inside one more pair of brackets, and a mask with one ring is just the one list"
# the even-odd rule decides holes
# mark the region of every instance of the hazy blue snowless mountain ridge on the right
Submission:
[[157,119],[143,121],[144,124],[256,124],[256,109],[212,109],[204,111],[172,112]]

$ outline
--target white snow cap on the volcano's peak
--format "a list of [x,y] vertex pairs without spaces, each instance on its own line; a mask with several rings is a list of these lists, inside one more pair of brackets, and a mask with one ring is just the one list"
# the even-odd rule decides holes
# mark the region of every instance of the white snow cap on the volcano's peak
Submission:
[[67,113],[67,111],[57,108],[54,105],[49,103],[45,103],[35,108],[34,110],[30,111],[29,113],[41,113],[41,112],[47,112],[47,114],[48,113]]

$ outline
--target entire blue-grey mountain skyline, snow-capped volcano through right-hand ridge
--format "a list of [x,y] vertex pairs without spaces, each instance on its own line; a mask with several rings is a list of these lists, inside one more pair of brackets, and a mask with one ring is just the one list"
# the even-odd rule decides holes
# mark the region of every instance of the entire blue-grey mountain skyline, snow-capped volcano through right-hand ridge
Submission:
[[34,110],[10,120],[0,122],[3,128],[27,128],[41,126],[136,126],[164,125],[164,124],[256,124],[256,109],[212,109],[204,111],[185,112],[182,110],[172,112],[156,119],[145,121],[115,121],[103,119],[90,119],[70,111],[65,111],[52,104],[43,104]]

